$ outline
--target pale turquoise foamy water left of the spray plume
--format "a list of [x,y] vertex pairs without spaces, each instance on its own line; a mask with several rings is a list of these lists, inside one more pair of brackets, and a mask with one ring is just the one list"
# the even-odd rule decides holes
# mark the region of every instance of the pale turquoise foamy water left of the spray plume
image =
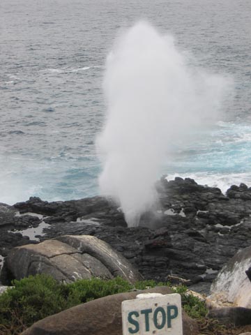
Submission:
[[[25,156],[0,158],[5,160],[0,202],[15,204],[31,196],[47,201],[70,200],[98,193],[98,162],[93,156],[61,155],[43,160]],[[80,183],[83,179],[84,184]]]

